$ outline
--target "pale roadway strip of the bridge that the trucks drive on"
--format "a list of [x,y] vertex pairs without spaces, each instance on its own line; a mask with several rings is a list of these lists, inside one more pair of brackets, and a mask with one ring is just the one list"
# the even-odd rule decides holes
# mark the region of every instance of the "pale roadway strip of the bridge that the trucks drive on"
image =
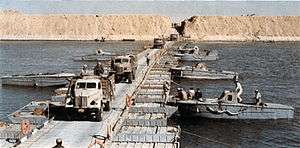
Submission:
[[148,49],[138,55],[138,70],[136,80],[132,84],[116,84],[116,99],[112,103],[112,110],[105,112],[103,121],[52,121],[40,130],[36,130],[33,135],[21,142],[18,147],[44,147],[50,148],[55,145],[56,138],[62,138],[65,147],[87,147],[93,135],[106,137],[108,127],[114,126],[125,108],[126,94],[131,95],[142,81],[147,69],[145,55],[155,55],[159,49]]

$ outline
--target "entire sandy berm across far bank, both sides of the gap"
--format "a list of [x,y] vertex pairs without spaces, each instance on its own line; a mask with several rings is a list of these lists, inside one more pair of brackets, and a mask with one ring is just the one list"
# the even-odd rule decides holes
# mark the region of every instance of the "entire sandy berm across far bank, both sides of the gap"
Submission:
[[[1,40],[153,40],[174,29],[157,15],[28,15],[0,12]],[[193,16],[178,32],[198,41],[300,41],[300,16]]]

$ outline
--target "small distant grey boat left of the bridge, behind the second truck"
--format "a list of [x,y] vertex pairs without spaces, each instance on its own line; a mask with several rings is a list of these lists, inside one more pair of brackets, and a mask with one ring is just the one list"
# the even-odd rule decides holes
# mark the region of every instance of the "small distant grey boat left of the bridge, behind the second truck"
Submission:
[[88,54],[84,56],[74,57],[74,61],[110,61],[112,57],[117,56],[115,53],[104,52],[101,49],[98,49],[94,54]]

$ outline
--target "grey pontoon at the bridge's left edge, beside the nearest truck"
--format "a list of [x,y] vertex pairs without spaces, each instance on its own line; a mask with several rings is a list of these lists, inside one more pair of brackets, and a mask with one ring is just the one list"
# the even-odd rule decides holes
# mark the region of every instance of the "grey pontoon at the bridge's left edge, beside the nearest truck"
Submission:
[[15,124],[28,120],[30,124],[42,125],[48,121],[48,102],[32,101],[21,109],[8,115],[8,119]]

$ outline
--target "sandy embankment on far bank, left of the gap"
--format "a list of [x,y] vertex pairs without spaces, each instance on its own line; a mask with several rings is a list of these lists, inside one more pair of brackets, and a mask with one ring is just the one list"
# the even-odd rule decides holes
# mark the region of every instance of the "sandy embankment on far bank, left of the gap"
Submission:
[[171,20],[150,15],[26,15],[0,12],[2,40],[153,40],[169,36]]

